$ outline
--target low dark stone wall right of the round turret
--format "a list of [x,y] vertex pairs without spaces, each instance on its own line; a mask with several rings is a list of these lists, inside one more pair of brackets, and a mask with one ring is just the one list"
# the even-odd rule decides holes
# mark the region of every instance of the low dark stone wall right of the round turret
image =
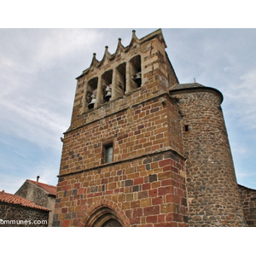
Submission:
[[256,227],[256,190],[239,185],[241,207],[249,227]]

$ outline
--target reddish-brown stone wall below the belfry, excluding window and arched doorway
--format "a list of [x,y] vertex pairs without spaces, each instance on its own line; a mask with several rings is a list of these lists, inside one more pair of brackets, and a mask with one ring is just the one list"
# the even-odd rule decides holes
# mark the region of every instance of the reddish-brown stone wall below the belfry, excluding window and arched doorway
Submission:
[[[67,132],[54,225],[86,225],[99,206],[112,207],[126,226],[187,225],[177,115],[176,102],[163,94]],[[113,162],[104,164],[109,142]]]

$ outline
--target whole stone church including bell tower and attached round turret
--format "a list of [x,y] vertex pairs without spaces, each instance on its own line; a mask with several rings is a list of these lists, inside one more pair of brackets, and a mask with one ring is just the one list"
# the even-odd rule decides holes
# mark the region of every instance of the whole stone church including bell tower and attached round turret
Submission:
[[54,226],[243,225],[222,95],[179,84],[161,30],[77,78]]

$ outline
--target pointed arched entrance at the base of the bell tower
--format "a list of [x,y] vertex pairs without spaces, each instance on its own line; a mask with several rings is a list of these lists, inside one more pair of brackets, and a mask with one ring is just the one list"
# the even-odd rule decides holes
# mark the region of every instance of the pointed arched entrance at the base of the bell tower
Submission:
[[90,215],[86,227],[123,227],[122,220],[109,207],[98,207]]

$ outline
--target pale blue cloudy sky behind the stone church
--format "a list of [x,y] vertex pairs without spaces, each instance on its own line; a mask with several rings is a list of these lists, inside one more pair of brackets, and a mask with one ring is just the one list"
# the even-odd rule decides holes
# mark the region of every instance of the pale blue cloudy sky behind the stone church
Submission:
[[[56,185],[60,137],[70,125],[76,80],[105,45],[127,46],[156,28],[0,29],[0,190],[26,179]],[[180,83],[220,90],[237,182],[256,189],[256,29],[163,28]]]

